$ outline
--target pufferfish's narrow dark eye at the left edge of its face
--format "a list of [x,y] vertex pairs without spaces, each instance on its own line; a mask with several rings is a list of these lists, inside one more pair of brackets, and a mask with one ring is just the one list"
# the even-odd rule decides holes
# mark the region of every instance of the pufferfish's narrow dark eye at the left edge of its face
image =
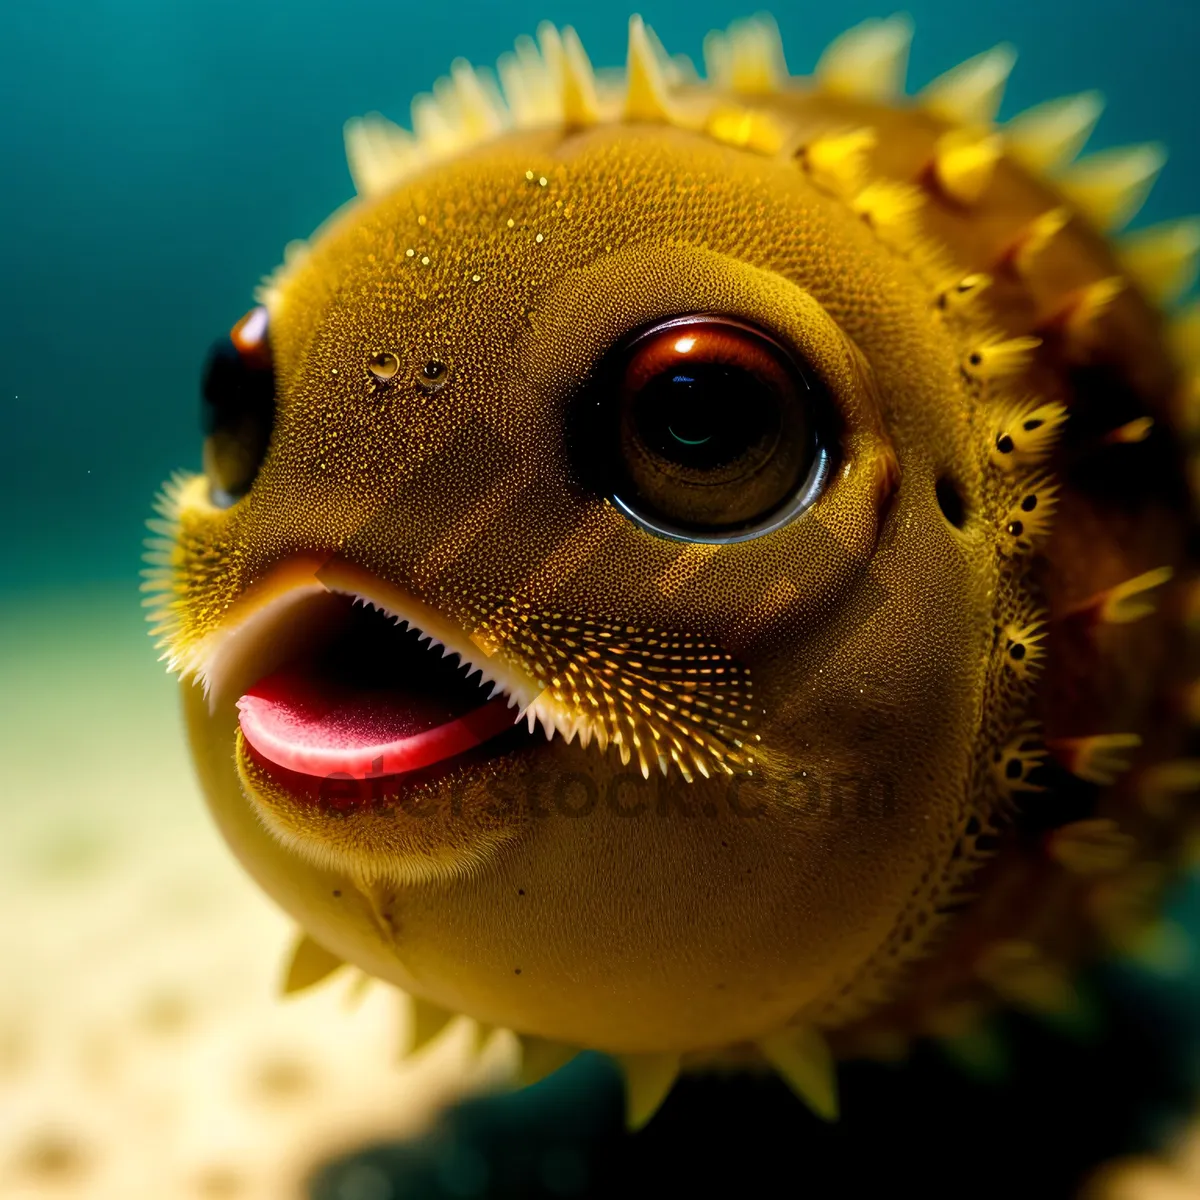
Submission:
[[204,473],[218,508],[250,491],[266,457],[275,422],[275,371],[266,332],[266,310],[252,308],[212,346],[204,364]]

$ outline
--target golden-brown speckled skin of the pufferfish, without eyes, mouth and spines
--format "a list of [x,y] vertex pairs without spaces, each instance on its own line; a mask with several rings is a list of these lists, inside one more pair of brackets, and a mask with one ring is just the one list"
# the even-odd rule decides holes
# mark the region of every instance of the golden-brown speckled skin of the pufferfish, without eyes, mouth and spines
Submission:
[[[910,181],[941,128],[808,92],[768,107],[804,136],[869,118],[888,133],[875,170]],[[1182,527],[1157,502],[1110,521],[1068,488],[1067,529],[1042,565],[997,553],[1009,502],[988,474],[989,414],[1004,396],[962,368],[978,314],[936,306],[940,282],[982,269],[1052,192],[1004,162],[971,221],[935,204],[905,251],[802,158],[668,124],[510,132],[350,205],[280,282],[270,452],[233,508],[212,508],[199,485],[182,492],[176,648],[200,647],[200,662],[205,638],[280,572],[313,564],[335,588],[377,581],[463,640],[488,598],[520,598],[534,622],[703,638],[752,680],[758,740],[732,776],[643,782],[613,745],[556,737],[422,786],[428,815],[298,803],[247,756],[235,695],[215,692],[210,709],[185,682],[223,834],[304,929],[371,974],[487,1025],[626,1054],[704,1055],[878,1013],[919,1031],[978,974],[964,937],[1030,936],[1024,917],[1008,928],[992,911],[962,918],[958,942],[932,937],[968,877],[1012,887],[980,868],[992,847],[973,841],[1008,828],[1000,748],[1026,720],[1066,736],[1146,731],[1157,691],[1124,679],[1162,666],[1163,628],[1139,635],[1138,666],[1114,668],[1105,686],[1133,698],[1100,730],[1039,707],[1080,674],[1074,650],[1051,655],[1057,683],[1036,692],[1003,674],[995,626],[997,613],[1038,618],[1048,600],[1180,566]],[[1021,298],[1110,274],[1102,239],[1064,238]],[[1028,332],[1038,306],[997,294],[988,328]],[[828,391],[839,446],[810,510],[716,550],[638,528],[581,484],[568,452],[574,397],[605,352],[697,312],[791,347]],[[1124,331],[1114,353],[1130,347],[1140,364],[1129,394],[1160,410],[1174,367],[1156,313],[1130,294],[1109,317]],[[388,383],[367,366],[382,352],[401,364]],[[450,368],[436,391],[419,379],[430,360]],[[1082,386],[1039,358],[1012,394],[1069,401]],[[938,506],[943,479],[962,496],[961,529]],[[536,673],[520,640],[494,653]],[[1170,731],[1147,749],[1177,752]],[[527,798],[530,779],[544,815],[503,803]],[[1067,888],[1080,908],[1075,876],[1050,878],[1025,842],[1001,844],[1031,896]],[[1069,960],[1081,941],[1070,926],[1042,944]],[[901,1019],[922,979],[922,1015]]]

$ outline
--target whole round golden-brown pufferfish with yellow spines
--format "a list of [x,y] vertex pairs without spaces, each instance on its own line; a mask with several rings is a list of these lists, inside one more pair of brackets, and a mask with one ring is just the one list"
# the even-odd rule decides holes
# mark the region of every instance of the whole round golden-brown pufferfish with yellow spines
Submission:
[[1200,223],[1014,54],[544,25],[346,130],[146,589],[224,838],[342,962],[647,1121],[1069,1013],[1188,859]]

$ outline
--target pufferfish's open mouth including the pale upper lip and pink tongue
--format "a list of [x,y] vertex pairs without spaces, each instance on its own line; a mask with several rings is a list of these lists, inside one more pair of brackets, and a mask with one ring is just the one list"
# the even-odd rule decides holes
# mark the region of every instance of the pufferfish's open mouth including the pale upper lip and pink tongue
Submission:
[[427,784],[534,739],[529,684],[440,614],[378,595],[378,581],[274,582],[202,674],[210,707],[234,701],[247,754],[288,791]]

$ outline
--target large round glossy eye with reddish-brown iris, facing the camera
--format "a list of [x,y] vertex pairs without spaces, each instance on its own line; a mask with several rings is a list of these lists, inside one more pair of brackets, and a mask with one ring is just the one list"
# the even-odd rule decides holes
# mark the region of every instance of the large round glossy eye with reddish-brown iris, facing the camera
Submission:
[[751,538],[824,485],[827,397],[787,349],[743,322],[659,322],[613,352],[594,396],[594,449],[612,460],[606,490],[652,533]]

